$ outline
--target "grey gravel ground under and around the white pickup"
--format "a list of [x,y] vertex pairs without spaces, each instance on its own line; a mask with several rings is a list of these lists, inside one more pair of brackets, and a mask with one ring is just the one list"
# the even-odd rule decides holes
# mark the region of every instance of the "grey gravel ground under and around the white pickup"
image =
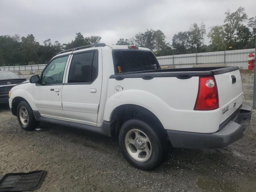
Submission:
[[[252,103],[253,74],[242,74]],[[37,191],[255,192],[256,116],[246,136],[217,150],[172,149],[153,171],[130,166],[115,138],[41,123],[22,130],[7,105],[0,105],[0,175],[47,170]]]

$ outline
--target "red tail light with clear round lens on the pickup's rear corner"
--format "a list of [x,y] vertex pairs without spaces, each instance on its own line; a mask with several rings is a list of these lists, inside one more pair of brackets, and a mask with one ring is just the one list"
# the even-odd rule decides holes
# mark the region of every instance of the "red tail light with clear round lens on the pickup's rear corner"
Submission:
[[218,89],[214,77],[199,77],[198,95],[194,110],[219,108]]

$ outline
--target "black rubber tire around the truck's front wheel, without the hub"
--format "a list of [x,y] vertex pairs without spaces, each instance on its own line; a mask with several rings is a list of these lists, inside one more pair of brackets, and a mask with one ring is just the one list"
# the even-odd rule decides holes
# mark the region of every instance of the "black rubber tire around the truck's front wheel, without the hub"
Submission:
[[[22,123],[22,120],[20,118],[20,108],[22,108],[22,109],[25,108],[26,109],[26,112],[27,112],[27,115],[28,115],[27,124]],[[18,121],[20,123],[20,126],[24,130],[32,131],[32,130],[34,130],[35,128],[38,127],[39,122],[36,121],[30,105],[25,101],[22,101],[18,104],[18,106],[17,106],[17,117],[18,117]]]

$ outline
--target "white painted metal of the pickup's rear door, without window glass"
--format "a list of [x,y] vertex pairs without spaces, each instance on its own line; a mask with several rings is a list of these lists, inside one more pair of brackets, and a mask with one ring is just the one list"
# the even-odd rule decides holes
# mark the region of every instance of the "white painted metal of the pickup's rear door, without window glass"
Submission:
[[[101,48],[87,50],[98,50],[98,76],[92,84],[68,84],[67,74],[62,90],[62,106],[66,120],[96,126],[102,86],[102,50]],[[83,51],[78,50],[73,54],[80,52]],[[68,63],[68,71],[70,64],[71,62]]]

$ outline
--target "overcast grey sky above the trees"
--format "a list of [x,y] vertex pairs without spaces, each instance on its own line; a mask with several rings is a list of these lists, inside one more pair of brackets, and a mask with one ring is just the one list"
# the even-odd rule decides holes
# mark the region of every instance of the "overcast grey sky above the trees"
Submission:
[[0,35],[33,34],[42,44],[48,38],[68,43],[81,32],[116,44],[152,28],[171,43],[194,22],[203,20],[206,32],[222,25],[224,12],[239,6],[248,17],[256,16],[256,0],[0,0]]

